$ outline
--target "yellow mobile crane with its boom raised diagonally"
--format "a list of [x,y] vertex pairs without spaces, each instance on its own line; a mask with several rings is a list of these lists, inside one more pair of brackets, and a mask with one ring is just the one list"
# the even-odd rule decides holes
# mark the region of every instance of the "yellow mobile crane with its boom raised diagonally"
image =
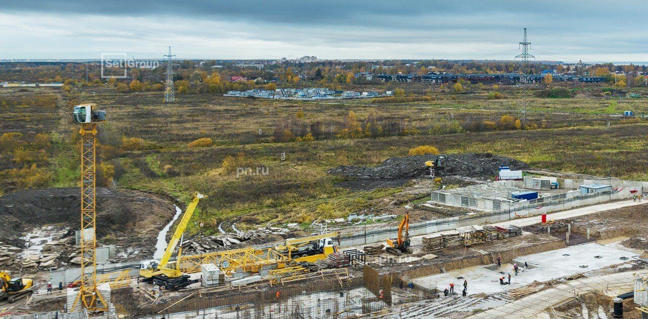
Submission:
[[207,196],[201,193],[194,193],[193,198],[191,199],[191,203],[189,203],[187,210],[185,210],[185,214],[182,215],[182,219],[180,219],[178,228],[176,228],[176,231],[173,233],[173,237],[171,237],[171,240],[168,242],[167,250],[165,250],[162,259],[160,259],[160,261],[147,260],[141,263],[139,268],[139,276],[142,276],[144,278],[143,281],[152,281],[153,283],[157,283],[157,285],[168,290],[177,290],[183,287],[187,287],[192,283],[198,282],[198,280],[189,280],[189,275],[183,274],[180,270],[181,265],[179,265],[179,260],[182,255],[182,243],[180,243],[180,247],[178,248],[178,257],[176,258],[174,268],[168,267],[168,260],[171,258],[173,251],[176,249],[176,245],[178,245],[178,242],[181,242],[183,233],[185,232],[185,229],[187,229],[187,225],[189,224],[189,219],[191,219],[191,215],[194,214],[194,210],[196,210],[196,206],[198,206],[198,201],[205,197]]

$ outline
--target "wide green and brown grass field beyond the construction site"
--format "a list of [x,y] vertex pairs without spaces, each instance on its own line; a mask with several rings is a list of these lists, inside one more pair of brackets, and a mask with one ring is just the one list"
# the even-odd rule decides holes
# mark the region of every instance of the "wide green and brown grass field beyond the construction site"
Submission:
[[[648,123],[640,118],[612,116],[625,109],[642,112],[647,107],[645,99],[552,99],[526,93],[528,122],[535,123],[537,129],[439,131],[439,122],[467,127],[471,121],[498,123],[503,115],[520,116],[519,97],[524,91],[510,89],[503,100],[488,100],[486,92],[438,93],[443,100],[407,104],[178,94],[178,103],[163,104],[159,92],[122,94],[93,87],[64,94],[45,88],[23,92],[4,89],[0,98],[55,94],[57,102],[50,107],[2,107],[0,128],[3,133],[21,132],[25,138],[40,132],[49,134],[47,160],[38,163],[47,168],[49,178],[39,186],[75,186],[78,137],[69,120],[70,106],[97,103],[108,112],[109,119],[100,125],[99,157],[107,165],[102,169],[105,176],[101,182],[113,178],[119,187],[165,193],[181,201],[187,201],[196,190],[206,193],[209,198],[200,204],[194,219],[203,221],[207,232],[215,231],[223,220],[237,221],[237,226],[247,228],[268,222],[308,223],[318,217],[343,217],[370,208],[400,188],[352,192],[335,186],[340,178],[325,171],[344,164],[378,164],[389,157],[405,156],[410,148],[421,145],[436,146],[443,153],[491,152],[538,168],[648,179],[648,137],[644,133]],[[375,123],[385,129],[396,127],[407,133],[336,137],[348,122],[350,111],[360,127],[371,122],[370,118],[378,118]],[[273,133],[281,122],[290,122],[297,129],[319,122],[322,132],[311,142],[276,142]],[[187,146],[205,137],[211,138],[213,145]],[[17,168],[12,156],[5,152],[0,157],[0,171]],[[237,177],[235,171],[224,170],[228,156],[227,167],[265,168],[268,174]],[[194,228],[192,223],[190,231]]]

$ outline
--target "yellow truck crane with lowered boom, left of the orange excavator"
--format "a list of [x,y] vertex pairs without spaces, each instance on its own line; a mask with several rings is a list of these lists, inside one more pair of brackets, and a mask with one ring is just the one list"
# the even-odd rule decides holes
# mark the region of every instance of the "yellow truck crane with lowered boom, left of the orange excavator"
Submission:
[[340,233],[332,232],[301,238],[288,238],[284,245],[275,248],[290,252],[293,261],[313,263],[318,259],[327,258],[330,254],[338,252],[338,247],[333,245],[333,238],[339,236]]

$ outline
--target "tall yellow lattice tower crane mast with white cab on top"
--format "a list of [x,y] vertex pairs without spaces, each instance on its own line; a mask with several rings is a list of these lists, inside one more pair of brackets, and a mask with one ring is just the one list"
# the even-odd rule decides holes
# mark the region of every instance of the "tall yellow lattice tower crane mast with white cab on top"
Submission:
[[97,237],[95,236],[95,142],[97,123],[106,121],[106,111],[95,111],[96,104],[75,106],[73,120],[81,124],[81,285],[72,309],[107,311],[108,305],[97,289]]

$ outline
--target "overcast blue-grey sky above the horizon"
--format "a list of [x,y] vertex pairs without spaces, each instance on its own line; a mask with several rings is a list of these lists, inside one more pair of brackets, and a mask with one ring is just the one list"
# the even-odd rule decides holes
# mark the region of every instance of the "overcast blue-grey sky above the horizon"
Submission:
[[[648,61],[646,0],[0,0],[0,59]],[[542,52],[544,51],[544,52]],[[551,54],[551,55],[550,55]]]

